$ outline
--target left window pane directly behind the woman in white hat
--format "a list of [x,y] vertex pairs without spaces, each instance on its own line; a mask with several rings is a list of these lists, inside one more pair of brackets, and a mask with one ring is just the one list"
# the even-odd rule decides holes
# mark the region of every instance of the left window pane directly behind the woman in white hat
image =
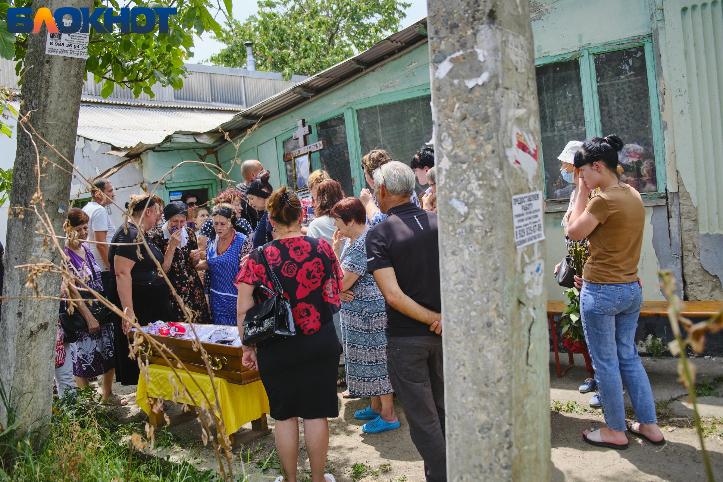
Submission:
[[575,189],[560,176],[557,156],[568,142],[585,140],[585,113],[577,60],[536,68],[547,199],[568,199]]

